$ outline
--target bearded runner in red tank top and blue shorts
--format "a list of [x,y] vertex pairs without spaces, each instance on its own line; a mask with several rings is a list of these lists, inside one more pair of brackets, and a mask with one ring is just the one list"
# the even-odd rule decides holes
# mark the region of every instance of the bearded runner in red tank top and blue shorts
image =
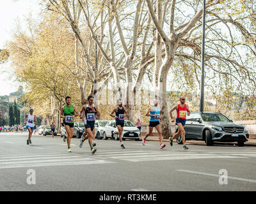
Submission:
[[172,118],[172,122],[174,122],[172,112],[176,110],[177,112],[177,118],[176,118],[176,125],[179,127],[177,133],[173,135],[172,137],[169,138],[170,140],[170,145],[173,145],[173,139],[176,138],[177,136],[180,135],[181,133],[181,139],[182,139],[182,144],[183,144],[183,149],[188,149],[188,147],[185,145],[185,124],[186,124],[186,115],[188,113],[188,116],[190,115],[190,111],[188,108],[188,105],[185,104],[185,98],[180,97],[180,104],[177,106],[174,106],[172,110],[170,110],[170,117]]

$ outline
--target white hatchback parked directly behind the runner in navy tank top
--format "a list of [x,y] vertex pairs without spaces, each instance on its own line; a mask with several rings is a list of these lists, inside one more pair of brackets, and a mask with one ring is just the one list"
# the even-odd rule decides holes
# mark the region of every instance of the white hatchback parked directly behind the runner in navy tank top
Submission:
[[[117,134],[115,134],[115,131],[118,129],[116,128],[116,122],[115,120],[110,120],[108,124],[104,127],[104,133],[103,138],[104,140],[108,140],[108,138],[113,138],[115,140],[119,140],[119,137]],[[140,139],[140,129],[138,129],[131,121],[125,120],[124,122],[124,130],[122,133],[122,140],[125,139]]]

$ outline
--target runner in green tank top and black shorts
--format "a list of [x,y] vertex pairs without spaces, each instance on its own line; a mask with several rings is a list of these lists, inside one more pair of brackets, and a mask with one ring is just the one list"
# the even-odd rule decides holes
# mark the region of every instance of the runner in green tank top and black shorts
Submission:
[[[65,98],[66,105],[61,107],[60,117],[63,118],[63,124],[67,132],[67,143],[68,143],[68,152],[71,152],[70,142],[73,136],[74,131],[74,118],[79,115],[76,106],[71,104],[71,98],[67,96]],[[66,142],[64,136],[63,141]]]

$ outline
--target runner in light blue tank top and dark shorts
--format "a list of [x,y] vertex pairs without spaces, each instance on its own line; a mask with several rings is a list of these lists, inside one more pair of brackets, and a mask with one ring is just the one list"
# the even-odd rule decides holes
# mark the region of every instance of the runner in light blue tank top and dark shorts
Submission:
[[142,145],[145,145],[146,139],[148,136],[152,134],[152,131],[154,128],[156,128],[157,133],[159,135],[159,142],[160,142],[160,149],[163,149],[165,147],[165,144],[162,143],[162,132],[161,132],[161,126],[159,123],[160,119],[160,109],[158,108],[158,101],[154,100],[154,106],[148,108],[148,111],[146,113],[146,116],[150,116],[149,120],[149,131],[145,138],[142,139]]

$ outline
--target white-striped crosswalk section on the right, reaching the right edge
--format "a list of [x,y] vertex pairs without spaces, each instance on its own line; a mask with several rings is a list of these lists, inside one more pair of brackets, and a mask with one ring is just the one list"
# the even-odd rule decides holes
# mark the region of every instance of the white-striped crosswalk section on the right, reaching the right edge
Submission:
[[116,151],[99,152],[97,157],[106,159],[120,159],[122,161],[140,162],[140,161],[164,161],[164,160],[183,160],[183,159],[235,159],[256,157],[255,150],[172,150],[172,151]]

